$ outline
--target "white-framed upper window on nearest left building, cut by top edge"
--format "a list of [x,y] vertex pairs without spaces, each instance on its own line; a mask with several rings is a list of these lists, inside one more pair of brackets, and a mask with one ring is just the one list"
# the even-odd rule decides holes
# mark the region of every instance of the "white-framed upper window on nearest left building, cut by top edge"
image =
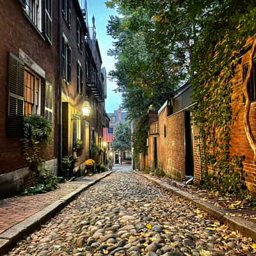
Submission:
[[42,31],[42,2],[41,0],[26,0],[24,10],[36,28]]

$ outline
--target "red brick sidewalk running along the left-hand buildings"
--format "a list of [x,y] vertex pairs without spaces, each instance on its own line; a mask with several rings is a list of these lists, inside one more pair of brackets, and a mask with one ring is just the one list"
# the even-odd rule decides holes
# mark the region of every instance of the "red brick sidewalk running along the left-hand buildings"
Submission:
[[60,184],[60,188],[40,195],[15,196],[0,200],[0,234],[13,225],[26,220],[29,216],[56,202],[63,196],[80,188],[81,185],[90,183],[102,175],[104,175],[104,173],[99,173],[91,177],[84,177],[77,181],[66,182]]

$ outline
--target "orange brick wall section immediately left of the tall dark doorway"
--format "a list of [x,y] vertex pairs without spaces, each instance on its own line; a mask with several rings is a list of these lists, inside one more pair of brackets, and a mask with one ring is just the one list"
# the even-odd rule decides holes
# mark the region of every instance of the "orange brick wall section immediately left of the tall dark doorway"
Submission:
[[184,129],[184,111],[168,116],[167,172],[177,180],[183,180],[185,175]]

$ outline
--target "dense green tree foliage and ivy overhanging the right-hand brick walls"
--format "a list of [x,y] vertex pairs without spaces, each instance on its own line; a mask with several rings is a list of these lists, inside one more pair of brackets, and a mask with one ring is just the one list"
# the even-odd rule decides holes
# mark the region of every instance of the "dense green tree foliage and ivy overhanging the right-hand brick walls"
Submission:
[[[117,60],[110,75],[118,83],[129,116],[142,128],[149,104],[159,108],[175,88],[191,81],[205,172],[213,170],[212,180],[220,184],[221,176],[239,170],[243,159],[229,154],[236,116],[231,108],[231,79],[241,56],[255,52],[253,41],[247,40],[256,31],[256,1],[112,0],[106,4],[120,13],[108,24],[108,34],[115,40],[109,54]],[[253,149],[246,86],[245,131]],[[135,129],[134,145],[145,136],[145,130]],[[145,145],[139,145],[138,152],[143,152]]]

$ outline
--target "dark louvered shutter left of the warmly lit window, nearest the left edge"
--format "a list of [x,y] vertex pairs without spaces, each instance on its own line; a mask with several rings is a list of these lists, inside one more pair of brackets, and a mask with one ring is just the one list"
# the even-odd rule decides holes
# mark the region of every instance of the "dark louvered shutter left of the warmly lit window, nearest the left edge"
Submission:
[[22,134],[24,111],[24,63],[10,52],[9,93],[6,134],[17,137]]

